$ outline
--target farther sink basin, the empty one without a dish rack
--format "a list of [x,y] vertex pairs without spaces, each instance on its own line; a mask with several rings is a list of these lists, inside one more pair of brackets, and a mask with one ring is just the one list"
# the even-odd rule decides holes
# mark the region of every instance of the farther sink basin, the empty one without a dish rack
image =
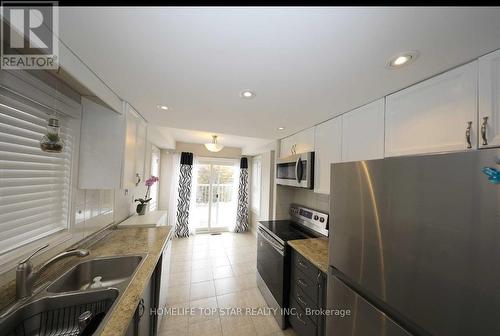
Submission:
[[120,256],[84,261],[63,274],[48,288],[48,292],[62,293],[92,288],[100,277],[101,287],[117,286],[130,280],[141,263],[142,256]]

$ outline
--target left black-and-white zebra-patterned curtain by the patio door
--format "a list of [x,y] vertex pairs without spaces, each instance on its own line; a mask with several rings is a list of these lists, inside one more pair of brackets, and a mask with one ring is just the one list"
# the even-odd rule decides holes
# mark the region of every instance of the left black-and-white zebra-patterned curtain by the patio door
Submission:
[[193,153],[182,152],[179,175],[179,197],[177,200],[176,237],[189,237],[189,205],[193,178]]

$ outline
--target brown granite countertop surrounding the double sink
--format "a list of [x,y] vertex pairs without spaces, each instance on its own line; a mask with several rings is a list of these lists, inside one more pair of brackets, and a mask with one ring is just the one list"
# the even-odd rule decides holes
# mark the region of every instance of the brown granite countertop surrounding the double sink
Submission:
[[[81,246],[90,250],[89,256],[70,257],[55,263],[47,269],[46,276],[40,282],[54,281],[71,267],[85,260],[108,256],[145,255],[127,288],[121,293],[116,305],[108,312],[104,321],[100,335],[116,336],[123,335],[127,331],[142,293],[173,230],[171,226],[160,226],[155,228],[118,227],[108,229],[108,231],[103,238],[89,247]],[[11,303],[15,296],[15,282],[12,281],[0,289],[3,294],[0,304],[5,306]]]

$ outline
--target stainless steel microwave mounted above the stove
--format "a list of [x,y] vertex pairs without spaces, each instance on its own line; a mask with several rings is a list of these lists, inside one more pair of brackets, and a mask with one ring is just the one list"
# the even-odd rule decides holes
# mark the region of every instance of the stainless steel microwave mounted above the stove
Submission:
[[276,183],[298,188],[314,188],[314,152],[277,159]]

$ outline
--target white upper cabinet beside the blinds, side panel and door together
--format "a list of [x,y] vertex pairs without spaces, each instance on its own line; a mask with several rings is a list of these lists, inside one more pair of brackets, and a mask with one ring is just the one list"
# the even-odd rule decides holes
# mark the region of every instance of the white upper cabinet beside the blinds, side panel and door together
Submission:
[[123,103],[125,113],[82,98],[78,187],[121,189],[144,180],[147,124]]

